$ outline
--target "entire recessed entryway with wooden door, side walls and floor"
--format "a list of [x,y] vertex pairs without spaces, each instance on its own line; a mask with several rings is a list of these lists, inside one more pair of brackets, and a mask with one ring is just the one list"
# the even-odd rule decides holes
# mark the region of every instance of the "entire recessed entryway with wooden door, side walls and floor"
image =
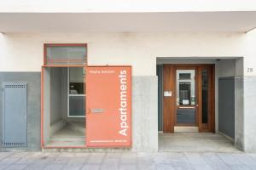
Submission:
[[160,151],[241,147],[242,58],[158,58]]

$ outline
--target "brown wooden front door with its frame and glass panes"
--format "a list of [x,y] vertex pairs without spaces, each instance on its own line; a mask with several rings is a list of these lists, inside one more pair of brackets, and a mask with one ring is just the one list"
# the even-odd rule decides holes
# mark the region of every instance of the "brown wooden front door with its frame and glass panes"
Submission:
[[214,132],[214,65],[163,66],[163,132]]

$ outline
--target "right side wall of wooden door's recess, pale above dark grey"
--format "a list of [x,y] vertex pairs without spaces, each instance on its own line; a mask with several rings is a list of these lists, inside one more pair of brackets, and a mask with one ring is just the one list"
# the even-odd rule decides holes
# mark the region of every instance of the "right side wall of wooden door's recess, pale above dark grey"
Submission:
[[[241,101],[243,98],[243,95],[241,94],[239,96],[236,95],[237,91],[241,91],[241,89],[237,89],[236,79],[243,75],[243,59],[220,59],[217,62],[217,68],[218,132],[224,133],[236,142],[236,135],[239,133],[236,132],[236,126],[241,124],[236,120],[235,108],[236,105],[240,105],[237,104],[236,101]],[[239,113],[239,115],[241,115],[241,113]]]

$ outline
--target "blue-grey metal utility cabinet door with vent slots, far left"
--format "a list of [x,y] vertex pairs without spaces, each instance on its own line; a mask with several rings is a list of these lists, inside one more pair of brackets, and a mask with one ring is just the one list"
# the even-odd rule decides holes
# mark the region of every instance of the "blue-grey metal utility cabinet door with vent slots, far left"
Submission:
[[26,82],[3,82],[3,146],[26,146]]

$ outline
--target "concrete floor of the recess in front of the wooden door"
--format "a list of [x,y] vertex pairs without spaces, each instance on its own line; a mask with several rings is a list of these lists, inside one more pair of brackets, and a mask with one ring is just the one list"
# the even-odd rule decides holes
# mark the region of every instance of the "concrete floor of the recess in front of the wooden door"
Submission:
[[219,133],[159,133],[159,151],[240,152]]

